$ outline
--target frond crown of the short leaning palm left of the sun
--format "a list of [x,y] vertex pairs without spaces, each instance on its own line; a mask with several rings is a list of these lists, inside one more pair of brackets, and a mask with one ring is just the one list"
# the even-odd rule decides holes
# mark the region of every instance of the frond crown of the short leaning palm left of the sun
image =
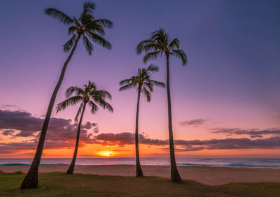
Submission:
[[[73,92],[75,92],[75,96],[71,96]],[[112,99],[111,94],[106,90],[97,90],[94,82],[89,81],[87,85],[83,85],[83,89],[80,87],[69,87],[66,90],[66,97],[69,96],[71,96],[69,99],[62,101],[57,105],[57,112],[64,110],[69,105],[76,105],[77,103],[82,102],[80,103],[75,121],[78,120],[78,115],[80,115],[84,105],[89,105],[92,113],[99,109],[97,105],[113,112],[112,106],[105,101],[106,99]]]

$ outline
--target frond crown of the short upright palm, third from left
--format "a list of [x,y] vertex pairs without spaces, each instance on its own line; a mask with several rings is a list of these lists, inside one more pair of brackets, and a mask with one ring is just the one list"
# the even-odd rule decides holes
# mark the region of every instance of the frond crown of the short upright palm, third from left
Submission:
[[122,80],[120,85],[120,91],[137,87],[139,92],[143,92],[146,96],[147,101],[151,101],[151,92],[153,92],[153,86],[157,85],[165,87],[165,83],[151,80],[151,73],[158,72],[158,66],[151,64],[148,68],[138,68],[138,73],[129,79]]

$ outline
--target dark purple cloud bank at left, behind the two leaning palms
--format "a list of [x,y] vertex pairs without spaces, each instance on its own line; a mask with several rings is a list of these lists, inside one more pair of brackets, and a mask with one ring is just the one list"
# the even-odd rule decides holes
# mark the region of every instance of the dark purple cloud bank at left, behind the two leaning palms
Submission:
[[[0,129],[8,129],[3,131],[7,135],[14,133],[9,133],[8,131],[18,130],[20,132],[15,134],[15,137],[36,138],[39,131],[41,131],[42,125],[43,119],[34,117],[29,112],[0,110]],[[89,140],[90,136],[92,136],[89,130],[93,129],[93,132],[96,132],[96,126],[96,123],[90,122],[82,124],[80,138]],[[75,140],[77,129],[78,124],[72,124],[71,119],[52,117],[50,118],[46,140]]]

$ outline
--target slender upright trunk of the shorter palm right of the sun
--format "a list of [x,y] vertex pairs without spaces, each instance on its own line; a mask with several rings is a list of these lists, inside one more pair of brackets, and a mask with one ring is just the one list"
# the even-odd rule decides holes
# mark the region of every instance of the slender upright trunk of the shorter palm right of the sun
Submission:
[[135,152],[136,152],[136,176],[143,177],[143,172],[140,166],[140,157],[139,157],[139,142],[138,142],[138,119],[139,119],[139,102],[141,89],[138,89],[138,98],[137,98],[137,111],[136,111],[136,126],[135,126]]

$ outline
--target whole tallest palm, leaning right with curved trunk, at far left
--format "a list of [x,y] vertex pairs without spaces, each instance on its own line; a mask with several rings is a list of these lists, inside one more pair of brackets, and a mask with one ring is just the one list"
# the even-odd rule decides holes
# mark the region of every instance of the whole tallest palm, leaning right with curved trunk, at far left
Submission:
[[[38,146],[36,149],[36,154],[31,163],[29,171],[25,176],[25,179],[22,182],[21,189],[33,188],[36,189],[38,187],[38,166],[41,161],[41,155],[43,152],[43,145],[45,143],[45,135],[48,130],[48,122],[50,121],[50,115],[52,113],[53,105],[55,104],[55,98],[57,96],[57,92],[59,90],[60,85],[62,84],[62,80],[64,78],[64,73],[66,71],[66,67],[73,56],[73,52],[76,50],[78,45],[78,41],[81,37],[83,37],[83,43],[85,44],[85,49],[89,54],[92,54],[93,45],[90,43],[92,40],[94,43],[102,45],[104,48],[111,49],[111,44],[106,41],[102,36],[105,34],[105,27],[113,27],[113,23],[106,19],[98,19],[95,20],[92,16],[92,12],[95,9],[95,4],[92,2],[85,2],[83,5],[83,12],[80,14],[78,19],[76,17],[69,17],[68,15],[62,13],[55,8],[45,9],[45,14],[54,17],[59,20],[63,24],[71,25],[68,29],[68,34],[72,34],[73,36],[67,41],[64,45],[64,52],[70,52],[68,58],[64,62],[62,67],[62,71],[59,76],[59,80],[57,85],[55,86],[54,91],[52,92],[52,96],[50,98],[50,103],[48,104],[48,110],[45,115],[45,120],[43,122],[41,135],[38,141]],[[90,38],[90,40],[89,40]]]

